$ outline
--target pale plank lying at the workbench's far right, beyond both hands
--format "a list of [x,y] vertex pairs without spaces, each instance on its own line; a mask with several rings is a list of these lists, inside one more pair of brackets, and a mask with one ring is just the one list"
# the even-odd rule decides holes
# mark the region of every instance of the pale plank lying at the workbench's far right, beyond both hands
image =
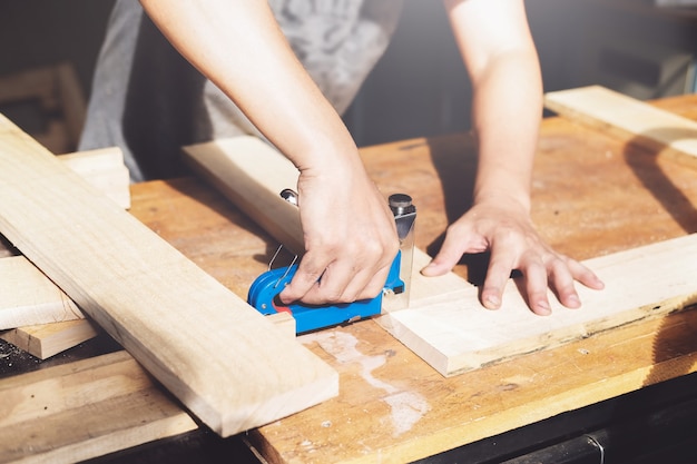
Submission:
[[697,122],[601,86],[544,95],[544,106],[575,121],[696,166]]

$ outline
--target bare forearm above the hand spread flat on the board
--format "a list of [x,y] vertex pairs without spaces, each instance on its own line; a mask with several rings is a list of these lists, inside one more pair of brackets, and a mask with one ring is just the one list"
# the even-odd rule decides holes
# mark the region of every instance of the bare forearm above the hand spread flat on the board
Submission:
[[473,88],[474,200],[512,198],[529,209],[542,83],[522,1],[446,0],[445,7]]

